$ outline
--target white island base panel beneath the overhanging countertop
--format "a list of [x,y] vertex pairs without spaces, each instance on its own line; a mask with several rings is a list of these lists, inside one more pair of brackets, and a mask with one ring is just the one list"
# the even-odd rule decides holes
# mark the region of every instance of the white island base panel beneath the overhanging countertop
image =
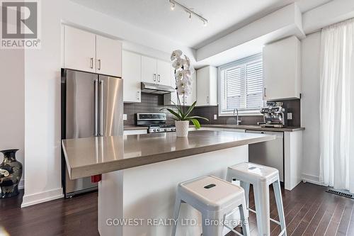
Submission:
[[[98,185],[100,235],[171,235],[173,220],[169,219],[173,218],[178,183],[208,174],[224,179],[227,167],[248,161],[248,150],[248,145],[244,145],[103,174]],[[197,210],[182,204],[181,218],[185,220],[178,223],[176,235],[202,233]],[[239,214],[230,218],[239,220]],[[195,219],[197,225],[187,219]],[[228,231],[224,229],[225,234]]]

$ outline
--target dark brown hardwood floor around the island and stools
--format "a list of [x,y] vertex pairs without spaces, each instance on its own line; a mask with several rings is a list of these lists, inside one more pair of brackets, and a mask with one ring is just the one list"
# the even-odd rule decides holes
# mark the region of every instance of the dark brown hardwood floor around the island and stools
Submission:
[[[282,190],[287,235],[354,235],[354,200],[325,190],[322,186],[303,183],[292,191]],[[9,235],[98,235],[97,193],[27,208],[20,208],[22,196],[23,192],[16,198],[0,199],[0,227]],[[254,209],[253,194],[250,206]],[[270,193],[270,214],[278,218],[273,192]],[[255,214],[250,213],[249,223],[251,235],[257,235]],[[278,235],[280,227],[275,223],[270,226],[271,235]],[[233,235],[236,234],[228,234]]]

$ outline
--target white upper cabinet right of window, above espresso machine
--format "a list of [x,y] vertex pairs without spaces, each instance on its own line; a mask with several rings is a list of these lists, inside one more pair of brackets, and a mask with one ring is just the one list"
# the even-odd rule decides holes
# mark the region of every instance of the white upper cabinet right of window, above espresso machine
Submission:
[[295,36],[263,47],[264,100],[300,98],[300,50]]

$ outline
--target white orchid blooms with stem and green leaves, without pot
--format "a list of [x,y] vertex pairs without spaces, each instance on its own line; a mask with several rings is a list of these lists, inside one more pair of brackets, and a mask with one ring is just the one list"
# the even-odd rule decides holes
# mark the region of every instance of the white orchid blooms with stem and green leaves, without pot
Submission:
[[[195,128],[200,128],[198,119],[208,120],[200,116],[190,116],[193,111],[195,101],[189,108],[185,106],[185,96],[190,95],[192,91],[192,74],[195,72],[194,67],[190,64],[189,58],[184,55],[181,50],[174,50],[171,54],[172,67],[175,69],[176,91],[177,91],[177,104],[171,101],[177,108],[173,111],[170,108],[163,108],[169,111],[175,120],[190,120]],[[180,96],[183,96],[183,103],[181,103]]]

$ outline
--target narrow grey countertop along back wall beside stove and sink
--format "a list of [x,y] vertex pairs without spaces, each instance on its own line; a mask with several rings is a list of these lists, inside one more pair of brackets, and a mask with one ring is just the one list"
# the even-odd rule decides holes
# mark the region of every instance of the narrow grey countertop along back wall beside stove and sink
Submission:
[[[191,126],[193,127],[193,126]],[[294,132],[304,130],[303,127],[284,127],[284,128],[262,128],[259,125],[202,125],[202,128],[228,128],[239,130],[261,130],[261,131],[280,131],[280,132]],[[124,130],[147,130],[147,126],[125,125]]]

